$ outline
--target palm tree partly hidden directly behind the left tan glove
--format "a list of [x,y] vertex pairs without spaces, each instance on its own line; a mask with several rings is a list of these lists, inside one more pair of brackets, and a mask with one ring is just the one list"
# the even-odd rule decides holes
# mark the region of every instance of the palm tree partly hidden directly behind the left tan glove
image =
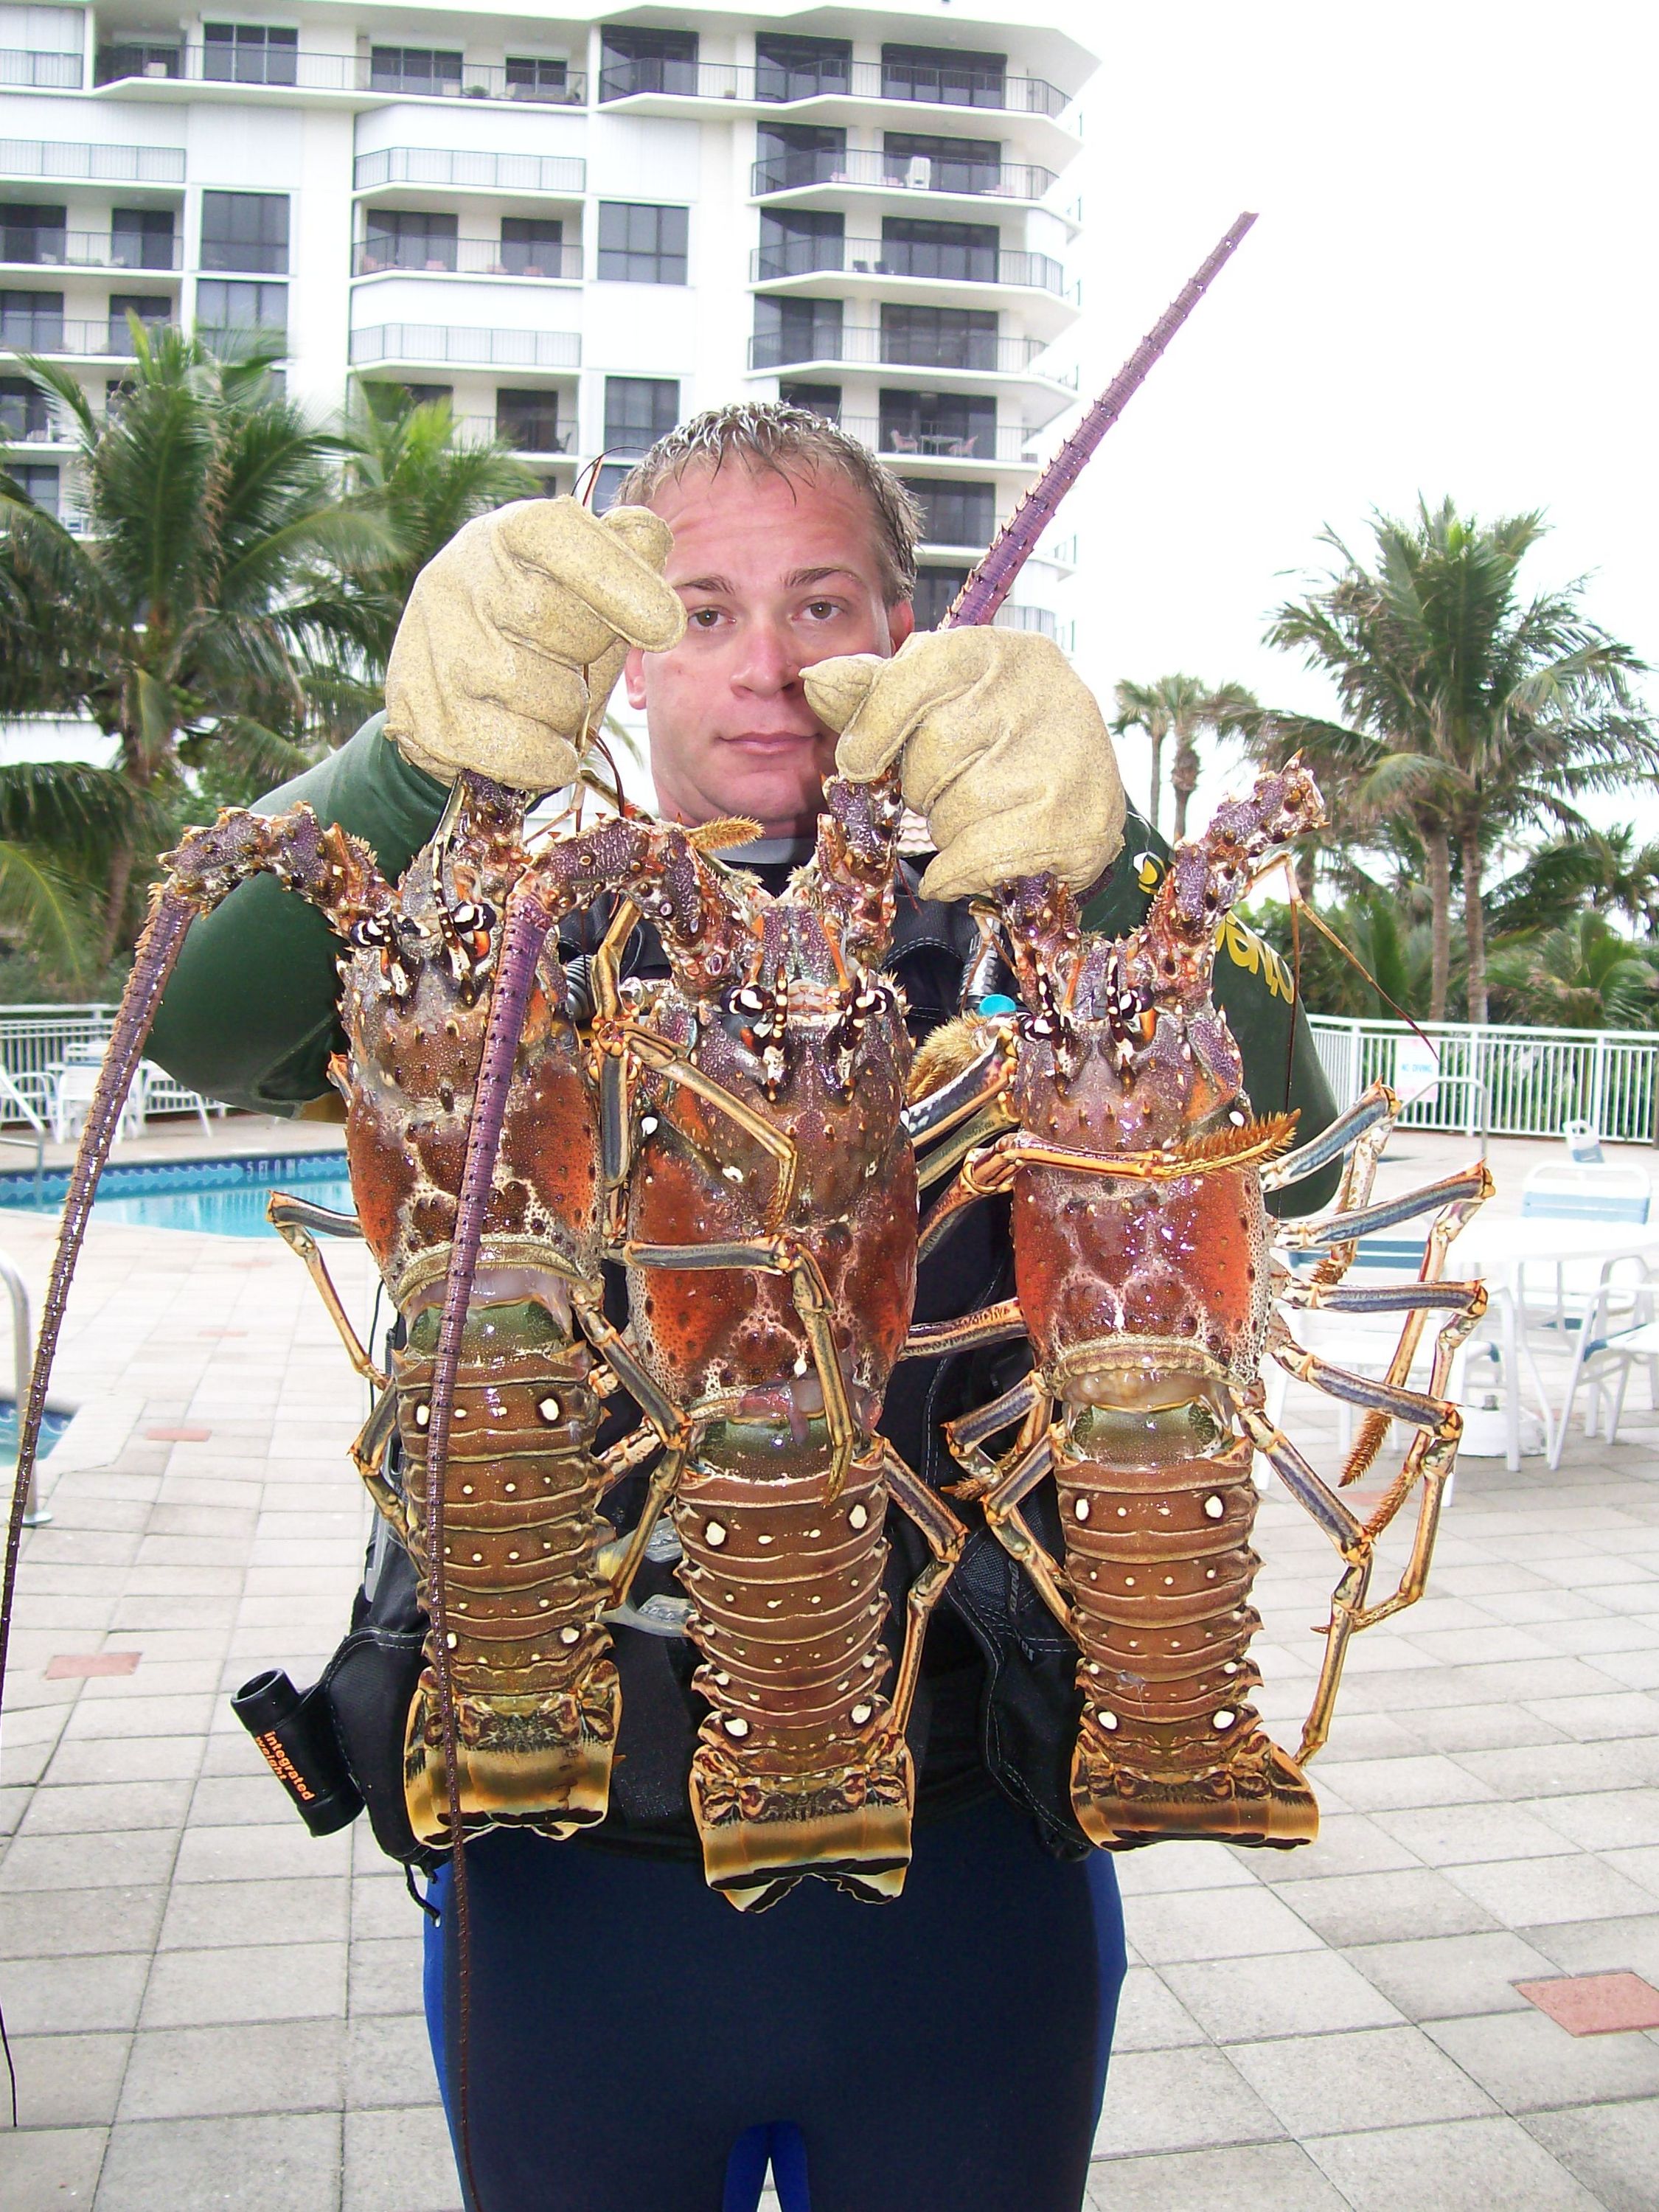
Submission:
[[380,703],[392,639],[431,555],[473,515],[542,491],[509,445],[465,438],[449,400],[414,405],[400,385],[363,387],[343,449],[347,500],[383,535],[319,564],[299,611],[325,657],[345,664],[330,697],[336,737]]

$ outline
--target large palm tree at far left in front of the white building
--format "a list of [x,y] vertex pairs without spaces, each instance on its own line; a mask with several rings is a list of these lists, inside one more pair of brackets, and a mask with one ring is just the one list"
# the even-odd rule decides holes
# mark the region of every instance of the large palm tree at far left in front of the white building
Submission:
[[[24,356],[73,422],[84,526],[0,473],[0,712],[91,719],[113,741],[102,785],[97,960],[128,925],[133,865],[181,774],[215,759],[276,781],[310,759],[312,659],[296,591],[323,553],[383,540],[338,500],[338,440],[270,380],[133,319],[133,365],[100,416],[80,383]],[[35,799],[73,776],[31,765]],[[15,787],[18,772],[7,772]],[[124,818],[115,818],[124,810]]]

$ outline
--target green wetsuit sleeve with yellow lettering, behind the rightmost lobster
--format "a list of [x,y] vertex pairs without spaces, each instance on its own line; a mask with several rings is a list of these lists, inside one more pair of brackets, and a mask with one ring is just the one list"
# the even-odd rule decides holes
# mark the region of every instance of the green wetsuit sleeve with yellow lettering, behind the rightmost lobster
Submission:
[[[1124,852],[1106,883],[1097,885],[1084,907],[1084,929],[1121,938],[1139,929],[1152,891],[1168,863],[1170,847],[1130,814],[1124,823]],[[1214,1002],[1228,1018],[1245,1068],[1245,1091],[1256,1113],[1296,1110],[1296,1141],[1307,1144],[1336,1119],[1336,1099],[1318,1062],[1307,1011],[1296,993],[1290,967],[1254,929],[1234,916],[1221,927],[1214,956]],[[1332,1161],[1303,1183],[1276,1192],[1267,1210],[1276,1217],[1312,1214],[1329,1206],[1343,1179],[1343,1164]]]

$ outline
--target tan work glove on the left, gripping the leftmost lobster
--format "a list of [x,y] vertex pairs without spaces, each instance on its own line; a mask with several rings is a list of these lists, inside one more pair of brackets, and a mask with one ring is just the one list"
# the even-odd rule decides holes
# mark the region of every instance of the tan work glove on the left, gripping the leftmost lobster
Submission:
[[385,672],[385,734],[440,783],[462,768],[555,792],[630,646],[666,653],[686,611],[648,507],[591,515],[515,500],[456,531],[416,577]]

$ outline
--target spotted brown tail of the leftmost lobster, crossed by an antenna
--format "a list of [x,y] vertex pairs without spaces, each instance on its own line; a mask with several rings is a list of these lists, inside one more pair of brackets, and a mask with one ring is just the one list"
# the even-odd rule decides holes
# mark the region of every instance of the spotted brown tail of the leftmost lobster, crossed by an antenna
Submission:
[[[427,1433],[436,1312],[416,1316],[396,1354],[405,1493],[414,1528],[429,1504]],[[582,1345],[533,1301],[484,1305],[467,1323],[445,1480],[442,1582],[456,1710],[462,1827],[535,1827],[571,1836],[604,1820],[622,1690],[599,1624],[593,1573],[611,1533],[593,1455],[599,1400]],[[431,1568],[416,1544],[420,1601]],[[438,1677],[429,1663],[409,1708],[405,1798],[422,1843],[453,1840]]]

